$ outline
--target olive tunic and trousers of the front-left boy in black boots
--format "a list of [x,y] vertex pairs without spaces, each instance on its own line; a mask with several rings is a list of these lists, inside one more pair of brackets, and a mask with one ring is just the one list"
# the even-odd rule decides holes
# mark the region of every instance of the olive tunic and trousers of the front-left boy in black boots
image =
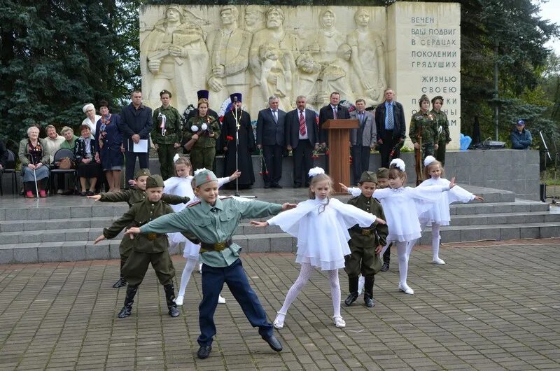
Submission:
[[[116,237],[127,227],[140,227],[165,214],[172,214],[173,209],[163,202],[151,202],[146,199],[137,202],[109,228],[104,228],[103,235],[107,239]],[[130,239],[130,236],[125,236]],[[148,233],[136,235],[132,241],[132,251],[123,266],[123,275],[130,286],[138,286],[144,280],[148,265],[152,263],[155,274],[162,285],[173,282],[175,268],[169,256],[169,241],[165,234]]]

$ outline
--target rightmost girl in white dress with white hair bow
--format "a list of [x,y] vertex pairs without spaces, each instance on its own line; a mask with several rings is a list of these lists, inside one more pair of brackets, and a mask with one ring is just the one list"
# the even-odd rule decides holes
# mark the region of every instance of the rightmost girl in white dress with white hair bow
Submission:
[[[427,156],[426,160],[424,160],[424,175],[426,176],[426,180],[418,186],[419,188],[436,185],[442,187],[449,186],[449,181],[442,178],[442,176],[444,176],[442,163],[435,160],[433,156]],[[464,188],[455,186],[449,192],[442,193],[440,200],[419,216],[422,230],[426,229],[426,226],[432,227],[432,262],[434,264],[445,264],[445,262],[440,259],[440,226],[449,225],[449,221],[451,221],[449,204],[456,201],[466,203],[472,200],[484,201],[482,197],[473,195]]]

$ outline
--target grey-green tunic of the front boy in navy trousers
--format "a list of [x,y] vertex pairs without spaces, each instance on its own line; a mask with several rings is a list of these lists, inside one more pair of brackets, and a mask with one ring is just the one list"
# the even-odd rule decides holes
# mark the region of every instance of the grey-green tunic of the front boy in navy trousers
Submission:
[[[278,214],[281,209],[280,204],[262,201],[218,198],[213,207],[201,200],[179,213],[142,225],[140,230],[142,233],[190,232],[202,243],[218,244],[232,238],[242,218],[264,218]],[[241,246],[233,242],[221,251],[201,251],[200,261],[211,267],[228,267],[239,258],[239,250]]]

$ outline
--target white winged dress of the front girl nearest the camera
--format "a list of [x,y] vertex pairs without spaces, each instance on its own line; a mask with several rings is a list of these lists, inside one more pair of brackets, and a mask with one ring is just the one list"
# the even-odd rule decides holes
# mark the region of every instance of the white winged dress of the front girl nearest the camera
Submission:
[[359,224],[369,227],[375,216],[339,200],[307,200],[295,209],[283,211],[269,219],[297,238],[295,262],[309,263],[321,270],[344,268],[344,255],[349,255],[348,228]]

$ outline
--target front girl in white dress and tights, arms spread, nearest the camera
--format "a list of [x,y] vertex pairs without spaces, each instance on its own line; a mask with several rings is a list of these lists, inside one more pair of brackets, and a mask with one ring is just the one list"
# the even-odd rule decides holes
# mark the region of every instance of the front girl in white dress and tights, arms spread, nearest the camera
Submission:
[[357,207],[330,198],[332,179],[320,167],[311,169],[309,176],[312,177],[309,182],[310,200],[300,202],[295,209],[284,211],[266,222],[251,221],[257,227],[278,225],[297,238],[295,262],[301,264],[300,275],[288,290],[286,300],[274,320],[274,327],[283,328],[290,304],[309,281],[315,267],[318,267],[328,272],[334,309],[332,319],[337,328],[344,328],[346,322],[340,316],[338,269],[344,268],[344,255],[350,253],[348,228],[356,224],[365,228],[375,221],[385,222]]

